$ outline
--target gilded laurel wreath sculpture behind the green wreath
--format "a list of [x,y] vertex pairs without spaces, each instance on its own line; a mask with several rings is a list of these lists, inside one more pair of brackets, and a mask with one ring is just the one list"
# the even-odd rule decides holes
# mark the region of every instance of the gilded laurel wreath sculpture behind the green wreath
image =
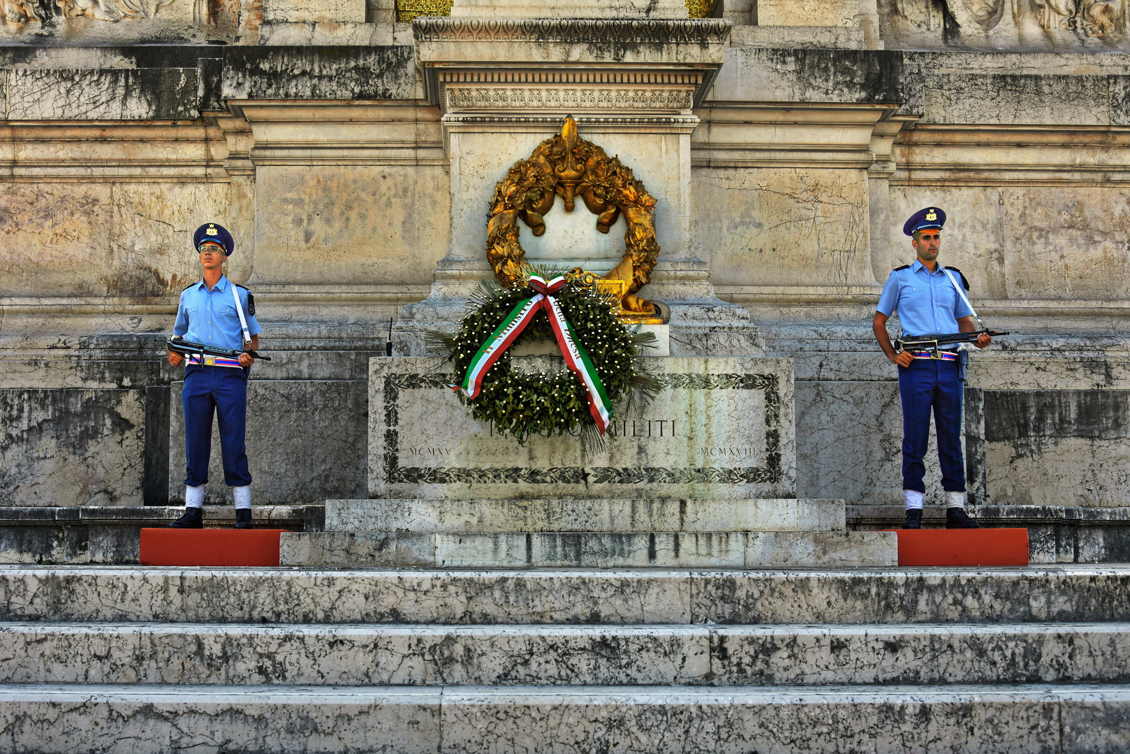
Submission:
[[518,237],[518,220],[525,223],[533,235],[546,232],[544,215],[556,197],[565,201],[565,211],[573,211],[576,198],[597,215],[597,229],[608,233],[624,215],[627,233],[624,258],[602,279],[609,289],[618,287],[619,304],[627,314],[655,314],[655,305],[635,294],[651,279],[659,257],[652,209],[655,199],[632,168],[609,157],[605,150],[580,138],[576,122],[570,115],[562,132],[542,141],[528,159],[520,159],[495,187],[487,225],[487,260],[498,283],[507,288],[524,286],[522,269],[525,251]]

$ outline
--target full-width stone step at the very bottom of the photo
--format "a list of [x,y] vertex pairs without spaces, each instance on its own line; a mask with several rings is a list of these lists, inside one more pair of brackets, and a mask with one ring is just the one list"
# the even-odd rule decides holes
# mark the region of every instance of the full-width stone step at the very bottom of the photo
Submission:
[[164,754],[1118,752],[1124,685],[0,686],[3,749]]

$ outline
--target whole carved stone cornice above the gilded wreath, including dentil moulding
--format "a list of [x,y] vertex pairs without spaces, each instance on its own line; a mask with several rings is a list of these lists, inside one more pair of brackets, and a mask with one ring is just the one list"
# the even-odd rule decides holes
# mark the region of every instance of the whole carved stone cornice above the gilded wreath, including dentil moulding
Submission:
[[716,18],[412,21],[432,104],[450,111],[554,107],[559,115],[689,111],[722,67],[730,28]]

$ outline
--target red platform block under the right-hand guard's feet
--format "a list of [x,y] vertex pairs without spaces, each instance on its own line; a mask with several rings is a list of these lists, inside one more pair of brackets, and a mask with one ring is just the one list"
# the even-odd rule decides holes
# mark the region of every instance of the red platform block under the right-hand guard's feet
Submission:
[[895,529],[899,565],[1027,565],[1027,529]]

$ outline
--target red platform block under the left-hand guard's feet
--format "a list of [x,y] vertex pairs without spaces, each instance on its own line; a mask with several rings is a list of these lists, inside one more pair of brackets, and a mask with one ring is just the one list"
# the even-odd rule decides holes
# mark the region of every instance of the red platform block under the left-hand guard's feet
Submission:
[[285,529],[141,529],[141,565],[278,565]]

